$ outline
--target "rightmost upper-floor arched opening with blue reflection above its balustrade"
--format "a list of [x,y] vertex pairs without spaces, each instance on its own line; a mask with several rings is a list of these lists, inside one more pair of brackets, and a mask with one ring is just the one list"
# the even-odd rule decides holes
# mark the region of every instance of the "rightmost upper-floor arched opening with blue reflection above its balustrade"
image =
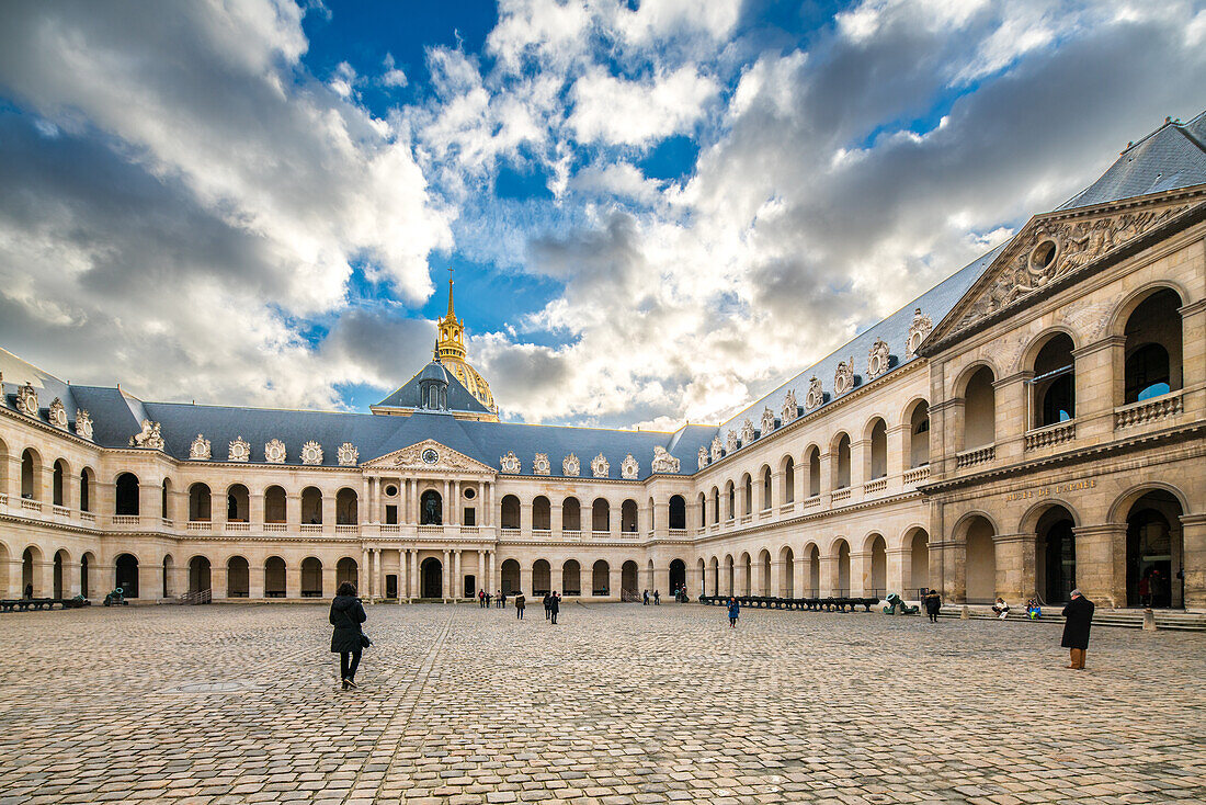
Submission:
[[1161,288],[1126,319],[1124,404],[1182,387],[1181,304],[1175,291]]

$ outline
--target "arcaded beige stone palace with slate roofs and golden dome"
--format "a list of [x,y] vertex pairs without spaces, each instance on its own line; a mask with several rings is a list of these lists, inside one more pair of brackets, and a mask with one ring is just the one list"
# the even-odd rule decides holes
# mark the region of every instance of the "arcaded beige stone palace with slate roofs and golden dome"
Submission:
[[1206,115],[720,426],[503,422],[468,357],[451,286],[434,360],[370,414],[0,354],[0,594],[1206,607]]

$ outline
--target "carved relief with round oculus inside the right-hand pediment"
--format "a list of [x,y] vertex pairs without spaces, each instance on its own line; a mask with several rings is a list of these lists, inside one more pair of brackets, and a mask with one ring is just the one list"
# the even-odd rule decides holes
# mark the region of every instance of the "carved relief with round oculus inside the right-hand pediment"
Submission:
[[959,320],[956,331],[1042,290],[1050,282],[1088,266],[1144,232],[1184,212],[1189,204],[1163,210],[1124,212],[1088,221],[1048,221],[1019,239],[1001,262],[997,274]]

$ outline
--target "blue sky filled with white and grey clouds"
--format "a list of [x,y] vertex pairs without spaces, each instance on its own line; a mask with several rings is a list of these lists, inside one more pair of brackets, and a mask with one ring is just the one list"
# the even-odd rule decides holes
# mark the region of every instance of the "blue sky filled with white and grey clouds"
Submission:
[[0,345],[367,410],[449,268],[504,418],[716,421],[1206,109],[1206,0],[0,4]]

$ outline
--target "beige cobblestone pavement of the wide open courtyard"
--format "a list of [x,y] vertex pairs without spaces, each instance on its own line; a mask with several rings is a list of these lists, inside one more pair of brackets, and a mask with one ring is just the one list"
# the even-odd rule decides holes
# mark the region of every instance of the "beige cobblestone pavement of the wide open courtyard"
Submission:
[[0,805],[1206,801],[1206,635],[719,607],[0,616]]

